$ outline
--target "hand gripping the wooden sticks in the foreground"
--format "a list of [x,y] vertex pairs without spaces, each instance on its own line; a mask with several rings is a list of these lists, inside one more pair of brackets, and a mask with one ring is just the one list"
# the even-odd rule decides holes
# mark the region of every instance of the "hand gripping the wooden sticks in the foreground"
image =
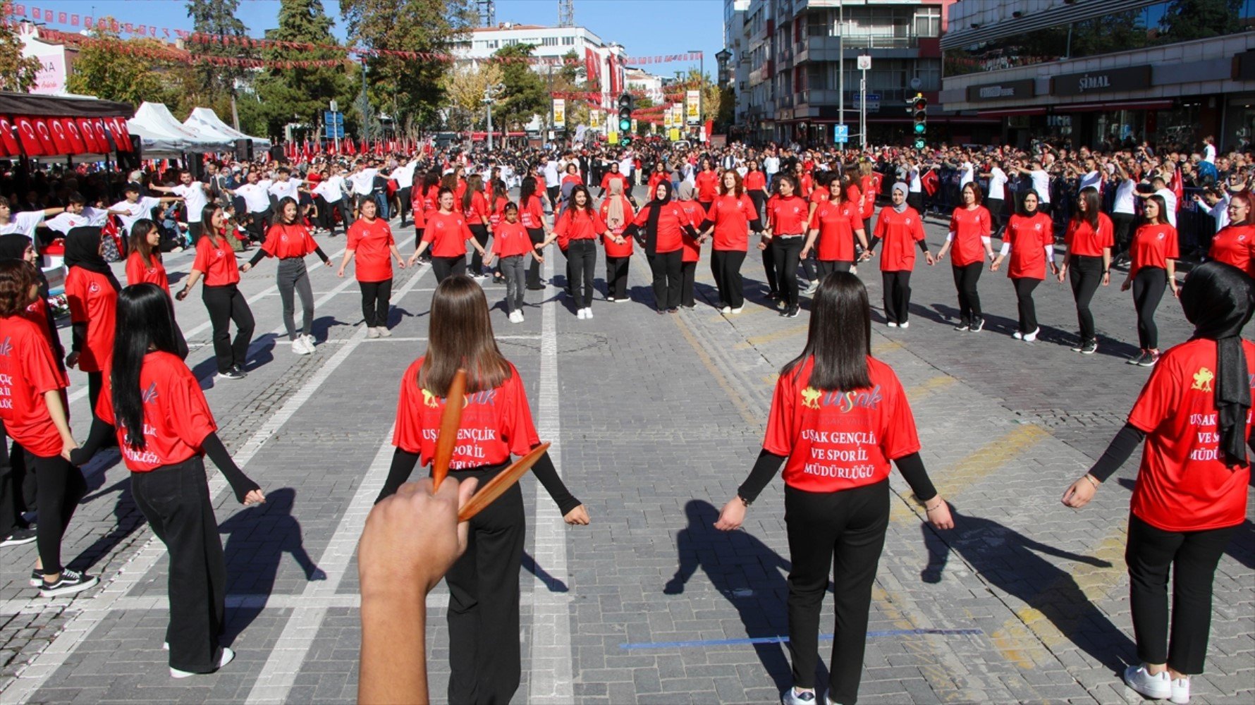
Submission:
[[423,478],[375,504],[358,542],[363,597],[405,585],[430,592],[467,548],[469,524],[458,522],[458,508],[477,485],[448,477],[433,493],[432,479]]

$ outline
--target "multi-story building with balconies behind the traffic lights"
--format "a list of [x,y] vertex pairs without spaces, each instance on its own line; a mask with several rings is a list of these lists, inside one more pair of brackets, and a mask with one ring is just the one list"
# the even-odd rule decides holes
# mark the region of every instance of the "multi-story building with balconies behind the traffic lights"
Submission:
[[[750,0],[742,36],[748,55],[744,119],[758,140],[831,143],[841,122],[858,133],[858,55],[871,56],[868,143],[910,133],[906,99],[934,104],[941,89],[941,31],[954,0]],[[842,107],[845,108],[842,110]],[[970,118],[944,117],[934,132]],[[843,114],[843,115],[842,115]],[[965,128],[960,128],[965,129]],[[931,134],[931,132],[930,132]],[[857,142],[857,137],[851,137]]]

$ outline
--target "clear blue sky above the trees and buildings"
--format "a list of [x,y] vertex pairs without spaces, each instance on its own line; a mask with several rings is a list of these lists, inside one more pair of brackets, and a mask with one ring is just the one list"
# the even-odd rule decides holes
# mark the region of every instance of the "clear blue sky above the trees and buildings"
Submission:
[[[119,23],[144,23],[157,28],[192,29],[182,0],[14,0],[28,8],[79,15],[112,15]],[[323,0],[333,19],[339,21],[338,0]],[[275,26],[277,0],[242,0],[240,19],[248,34],[261,34]],[[28,15],[29,16],[29,15]],[[497,21],[557,24],[557,0],[497,0]],[[575,0],[575,21],[605,41],[622,44],[629,55],[681,54],[690,49],[705,53],[705,70],[714,74],[714,54],[723,46],[723,0]],[[53,29],[73,29],[50,23]],[[344,36],[344,26],[338,33]],[[651,73],[686,69],[686,64],[646,66]]]

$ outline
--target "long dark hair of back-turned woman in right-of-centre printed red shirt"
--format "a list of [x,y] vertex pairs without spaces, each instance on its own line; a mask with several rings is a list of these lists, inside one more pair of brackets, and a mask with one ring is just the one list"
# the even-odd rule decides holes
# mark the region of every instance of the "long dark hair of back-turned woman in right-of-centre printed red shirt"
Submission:
[[832,272],[820,282],[811,307],[811,327],[802,354],[781,369],[784,376],[814,359],[809,386],[821,391],[852,391],[871,386],[871,306],[862,280]]

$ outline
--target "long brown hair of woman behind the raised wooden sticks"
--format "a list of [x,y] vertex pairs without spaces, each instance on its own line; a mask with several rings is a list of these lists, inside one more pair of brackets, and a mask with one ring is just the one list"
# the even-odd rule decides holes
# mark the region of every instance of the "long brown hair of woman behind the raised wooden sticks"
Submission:
[[418,386],[446,396],[458,368],[467,371],[467,394],[494,389],[510,379],[510,363],[497,347],[483,289],[466,275],[435,287],[427,354]]

